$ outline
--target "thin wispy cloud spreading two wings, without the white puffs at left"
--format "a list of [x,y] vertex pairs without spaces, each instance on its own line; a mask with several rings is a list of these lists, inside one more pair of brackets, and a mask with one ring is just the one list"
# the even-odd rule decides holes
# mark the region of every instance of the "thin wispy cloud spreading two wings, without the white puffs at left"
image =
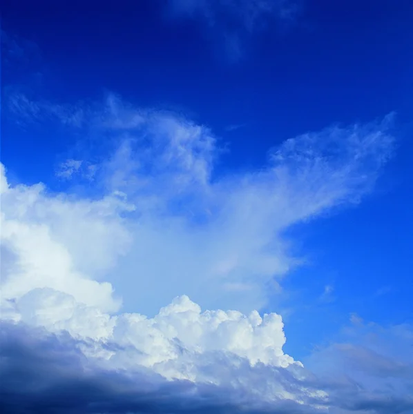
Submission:
[[[105,194],[105,208],[113,203],[113,219],[122,200],[133,206],[133,215],[119,221],[130,240],[119,262],[122,279],[108,277],[118,288],[126,281],[138,286],[143,278],[145,290],[122,293],[127,303],[138,300],[148,312],[182,293],[208,307],[241,306],[251,311],[264,306],[273,279],[279,280],[298,263],[288,253],[285,229],[340,204],[358,202],[371,190],[393,148],[388,132],[392,119],[386,117],[289,139],[271,150],[264,168],[220,177],[214,171],[219,139],[209,128],[172,112],[134,108],[113,95],[86,109],[56,110],[52,103],[25,102],[26,108],[41,108],[41,114],[35,112],[37,118],[64,113],[61,122],[83,128],[82,139],[99,136],[88,150],[73,154],[61,174],[74,177],[76,172],[86,179],[93,175],[96,188]],[[67,124],[66,117],[72,119],[79,110],[87,111],[84,124]],[[81,200],[79,208],[42,190],[35,193],[31,202],[39,210],[55,205],[62,212],[79,214],[70,220],[70,230],[79,235],[70,235],[70,246],[81,250],[82,260],[93,257],[87,251],[94,243],[81,247],[84,229],[75,230],[74,222],[80,226],[84,214],[100,205]],[[9,194],[10,203],[17,202],[19,198],[12,196],[16,191]],[[64,214],[53,228],[66,228],[63,220]],[[65,245],[68,231],[61,235]],[[95,237],[95,232],[88,230],[88,237]],[[112,244],[100,233],[96,237],[99,244]],[[148,272],[151,277],[146,277]]]

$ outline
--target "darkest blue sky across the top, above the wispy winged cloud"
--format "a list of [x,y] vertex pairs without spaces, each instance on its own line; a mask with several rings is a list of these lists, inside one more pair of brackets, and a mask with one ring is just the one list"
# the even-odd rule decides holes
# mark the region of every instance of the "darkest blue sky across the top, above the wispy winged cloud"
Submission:
[[334,122],[412,114],[410,1],[304,2],[287,28],[253,36],[237,63],[199,22],[167,18],[160,3],[13,1],[3,30],[35,42],[39,56],[30,79],[27,68],[5,70],[3,85],[26,80],[64,101],[115,90],[145,106],[182,108],[217,132],[246,124],[224,136],[234,163],[245,155],[260,163],[278,141]]

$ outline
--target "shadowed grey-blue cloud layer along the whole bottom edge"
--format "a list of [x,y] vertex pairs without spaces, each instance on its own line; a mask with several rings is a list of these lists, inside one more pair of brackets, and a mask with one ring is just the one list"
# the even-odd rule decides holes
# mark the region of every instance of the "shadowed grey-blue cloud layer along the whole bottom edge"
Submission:
[[[357,382],[324,382],[310,374],[300,385],[323,386],[330,395],[328,405],[316,396],[304,404],[291,400],[268,404],[258,396],[251,397],[231,386],[166,381],[142,367],[128,372],[106,370],[90,362],[79,350],[79,346],[88,345],[87,341],[80,342],[67,333],[52,335],[23,324],[2,322],[0,345],[0,410],[5,414],[413,412],[413,399],[409,394],[374,393]],[[231,369],[227,359],[221,361],[224,370]],[[211,365],[206,361],[207,366],[220,368],[219,364]],[[264,364],[258,366],[257,375],[262,381],[268,375],[267,368]],[[275,369],[273,375],[289,383],[291,390],[296,389],[298,380],[287,370]],[[233,379],[236,380],[236,375]],[[318,404],[320,408],[310,404]]]

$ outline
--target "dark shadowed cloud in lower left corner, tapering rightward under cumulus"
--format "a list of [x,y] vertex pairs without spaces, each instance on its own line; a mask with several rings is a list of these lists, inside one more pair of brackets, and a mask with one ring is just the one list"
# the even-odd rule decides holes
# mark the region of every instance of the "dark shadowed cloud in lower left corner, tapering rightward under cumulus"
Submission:
[[275,408],[230,389],[166,381],[149,371],[106,371],[91,364],[68,334],[2,322],[0,411],[23,413],[303,413]]

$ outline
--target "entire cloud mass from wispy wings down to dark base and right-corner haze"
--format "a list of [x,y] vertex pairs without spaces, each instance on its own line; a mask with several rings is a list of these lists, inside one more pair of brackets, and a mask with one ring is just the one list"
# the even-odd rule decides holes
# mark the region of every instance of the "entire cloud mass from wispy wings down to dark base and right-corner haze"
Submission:
[[[12,186],[1,165],[0,366],[12,381],[12,362],[27,362],[28,407],[59,382],[85,393],[69,407],[85,413],[412,412],[410,327],[389,331],[403,353],[346,339],[311,372],[283,352],[281,316],[258,312],[301,261],[285,230],[371,190],[392,155],[391,116],[289,139],[260,170],[222,177],[211,130],[170,112],[112,95],[13,108],[88,142],[57,170],[88,194]],[[328,358],[363,372],[337,363],[333,381]]]

